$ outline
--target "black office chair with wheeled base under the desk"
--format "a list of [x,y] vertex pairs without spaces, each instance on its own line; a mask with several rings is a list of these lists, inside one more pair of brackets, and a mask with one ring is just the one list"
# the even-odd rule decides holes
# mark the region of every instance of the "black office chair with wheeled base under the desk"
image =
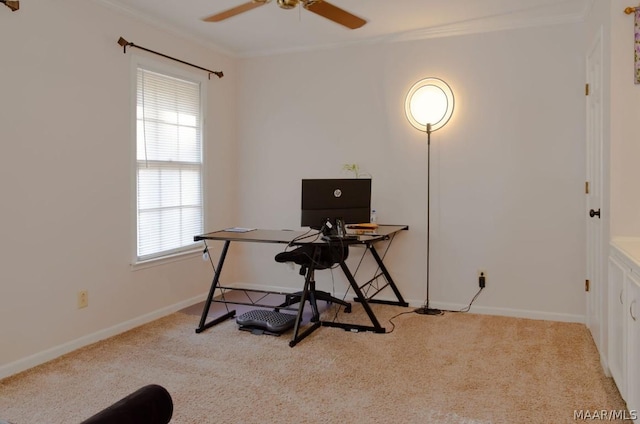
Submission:
[[[311,321],[317,322],[320,320],[320,313],[318,312],[318,300],[324,300],[327,303],[335,303],[344,306],[345,312],[351,312],[351,304],[345,302],[342,299],[331,296],[330,293],[320,291],[316,289],[316,281],[314,273],[318,269],[328,269],[335,264],[340,263],[347,259],[349,256],[349,247],[346,245],[318,245],[318,244],[305,244],[294,250],[288,252],[280,252],[276,255],[276,262],[294,262],[300,265],[300,275],[304,275],[305,278],[309,278],[309,292],[308,301],[311,304],[311,310],[313,312]],[[313,267],[311,265],[313,264]],[[309,273],[309,275],[307,275]],[[292,293],[285,297],[285,302],[279,307],[285,307],[300,303],[302,300],[302,292]],[[300,305],[304,307],[304,305]]]

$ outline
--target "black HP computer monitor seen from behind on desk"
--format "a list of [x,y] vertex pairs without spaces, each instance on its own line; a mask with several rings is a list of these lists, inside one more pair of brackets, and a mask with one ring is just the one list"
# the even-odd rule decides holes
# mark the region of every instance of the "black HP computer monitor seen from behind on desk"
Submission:
[[369,222],[371,179],[303,179],[302,226],[320,230],[329,221],[343,224]]

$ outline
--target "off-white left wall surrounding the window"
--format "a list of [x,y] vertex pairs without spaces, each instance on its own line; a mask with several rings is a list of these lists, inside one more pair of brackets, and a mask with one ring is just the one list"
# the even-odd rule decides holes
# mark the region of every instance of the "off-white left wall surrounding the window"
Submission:
[[[211,228],[234,212],[236,65],[99,2],[27,1],[0,12],[2,377],[207,292],[211,270],[199,255],[130,268],[136,50],[125,55],[116,42],[123,36],[227,74],[208,82]],[[79,289],[89,291],[86,309],[76,308]]]

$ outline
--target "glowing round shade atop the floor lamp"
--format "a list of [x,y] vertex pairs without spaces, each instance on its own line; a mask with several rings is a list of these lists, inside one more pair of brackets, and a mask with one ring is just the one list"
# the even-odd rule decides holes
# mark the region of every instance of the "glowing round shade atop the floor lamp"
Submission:
[[[453,104],[453,91],[446,82],[438,78],[425,78],[411,87],[404,109],[411,125],[427,132],[442,128],[449,122]],[[427,124],[431,124],[430,128]]]

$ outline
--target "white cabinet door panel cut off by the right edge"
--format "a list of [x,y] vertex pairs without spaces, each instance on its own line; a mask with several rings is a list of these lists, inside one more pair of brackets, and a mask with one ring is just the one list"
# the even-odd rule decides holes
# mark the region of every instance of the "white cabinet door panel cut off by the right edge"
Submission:
[[[640,273],[627,275],[627,393],[630,411],[640,411]],[[638,420],[636,420],[638,422]]]

